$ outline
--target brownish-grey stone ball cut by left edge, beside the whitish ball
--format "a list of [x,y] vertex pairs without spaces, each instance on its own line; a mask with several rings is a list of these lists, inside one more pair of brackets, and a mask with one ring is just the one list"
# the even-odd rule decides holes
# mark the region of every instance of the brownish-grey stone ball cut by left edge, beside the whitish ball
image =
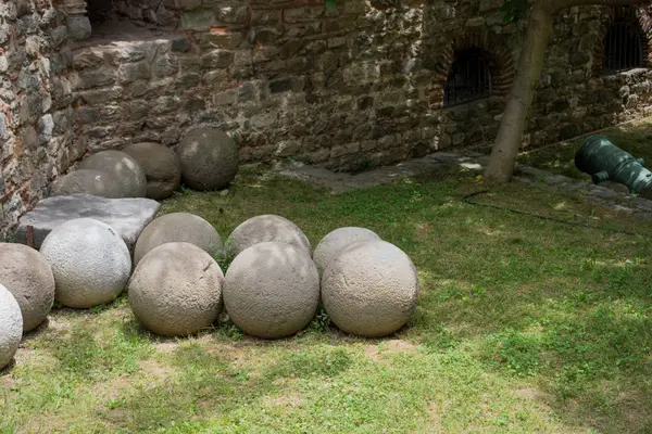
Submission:
[[54,303],[54,276],[38,251],[0,243],[0,284],[18,302],[24,332],[36,329],[48,317]]

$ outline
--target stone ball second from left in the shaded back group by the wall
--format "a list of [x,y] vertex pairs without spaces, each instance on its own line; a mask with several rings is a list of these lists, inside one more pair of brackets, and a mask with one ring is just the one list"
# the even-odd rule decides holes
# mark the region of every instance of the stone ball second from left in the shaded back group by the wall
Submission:
[[114,178],[122,197],[145,197],[147,178],[134,158],[121,151],[102,151],[79,164],[79,169],[100,170]]

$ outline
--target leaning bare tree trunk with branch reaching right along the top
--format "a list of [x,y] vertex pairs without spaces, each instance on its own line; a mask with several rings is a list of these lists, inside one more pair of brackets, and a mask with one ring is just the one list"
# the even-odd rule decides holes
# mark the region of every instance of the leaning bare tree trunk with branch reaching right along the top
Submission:
[[527,115],[532,104],[548,40],[552,33],[554,15],[563,9],[588,5],[628,5],[650,0],[538,0],[530,13],[521,59],[507,104],[491,150],[485,178],[494,182],[509,182],[514,173],[516,156],[523,141]]

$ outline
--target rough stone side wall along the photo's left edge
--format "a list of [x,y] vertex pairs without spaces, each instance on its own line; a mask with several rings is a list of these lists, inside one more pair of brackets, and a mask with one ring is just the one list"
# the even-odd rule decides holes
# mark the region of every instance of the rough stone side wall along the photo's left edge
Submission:
[[82,155],[65,40],[50,0],[0,1],[0,235]]

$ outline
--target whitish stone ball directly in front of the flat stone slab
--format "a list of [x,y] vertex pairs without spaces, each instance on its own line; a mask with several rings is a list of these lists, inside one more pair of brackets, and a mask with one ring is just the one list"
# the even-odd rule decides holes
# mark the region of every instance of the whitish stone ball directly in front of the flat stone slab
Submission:
[[52,267],[54,298],[67,307],[88,308],[113,301],[131,272],[123,239],[92,218],[58,226],[43,240],[40,253]]

